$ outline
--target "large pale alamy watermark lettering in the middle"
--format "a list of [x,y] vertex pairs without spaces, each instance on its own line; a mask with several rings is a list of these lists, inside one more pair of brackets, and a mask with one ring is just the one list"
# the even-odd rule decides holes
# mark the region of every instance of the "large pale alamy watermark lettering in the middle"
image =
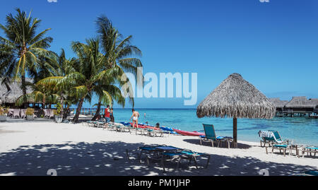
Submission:
[[[136,78],[136,80],[135,80]],[[190,81],[191,78],[191,81]],[[197,73],[146,73],[137,69],[137,76],[125,73],[121,78],[124,97],[184,98],[184,105],[196,105]]]

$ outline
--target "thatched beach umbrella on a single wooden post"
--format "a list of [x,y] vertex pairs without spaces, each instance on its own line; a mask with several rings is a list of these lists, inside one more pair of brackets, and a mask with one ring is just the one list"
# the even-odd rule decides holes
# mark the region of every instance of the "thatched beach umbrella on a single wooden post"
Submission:
[[233,140],[237,148],[237,118],[271,119],[275,106],[238,73],[232,73],[197,107],[197,117],[232,117]]

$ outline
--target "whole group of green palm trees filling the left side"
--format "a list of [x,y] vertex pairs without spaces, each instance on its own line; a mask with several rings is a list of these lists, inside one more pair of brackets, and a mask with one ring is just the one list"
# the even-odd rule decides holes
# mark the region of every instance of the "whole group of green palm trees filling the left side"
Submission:
[[[47,30],[37,33],[40,21],[25,11],[16,9],[17,14],[6,16],[6,24],[0,28],[0,77],[1,82],[20,81],[23,95],[16,100],[16,106],[27,107],[29,102],[42,105],[59,105],[57,114],[67,116],[71,105],[77,105],[73,121],[78,121],[83,102],[98,97],[97,112],[102,105],[117,102],[124,107],[126,97],[134,107],[131,93],[120,90],[127,81],[122,81],[126,72],[137,76],[141,67],[141,50],[131,44],[132,36],[123,37],[106,16],[96,20],[96,37],[86,42],[71,42],[76,57],[66,58],[61,53],[49,51],[52,37],[46,37]],[[25,81],[31,78],[32,83]],[[129,81],[128,81],[129,84]],[[130,85],[130,84],[129,84]],[[26,93],[32,88],[32,93]],[[43,107],[44,108],[44,107]]]

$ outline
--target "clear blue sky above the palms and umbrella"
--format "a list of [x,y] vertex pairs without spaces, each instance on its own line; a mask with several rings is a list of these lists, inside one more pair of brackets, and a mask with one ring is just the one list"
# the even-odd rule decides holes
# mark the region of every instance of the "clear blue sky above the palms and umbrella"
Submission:
[[[94,37],[95,20],[104,14],[123,35],[133,35],[144,73],[198,73],[197,104],[230,73],[240,73],[267,97],[318,97],[314,0],[11,0],[1,4],[0,23],[14,8],[32,10],[42,20],[39,31],[52,28],[50,49],[64,48],[68,57],[74,56],[70,42]],[[183,101],[136,98],[135,107],[196,107]]]

